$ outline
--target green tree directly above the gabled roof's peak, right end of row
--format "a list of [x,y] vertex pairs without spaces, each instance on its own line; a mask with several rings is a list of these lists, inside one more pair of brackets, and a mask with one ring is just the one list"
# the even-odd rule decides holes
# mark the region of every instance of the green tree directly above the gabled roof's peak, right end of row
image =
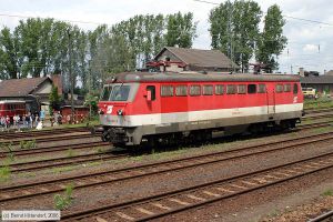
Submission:
[[196,23],[193,22],[193,13],[182,14],[178,12],[167,17],[165,41],[168,47],[179,46],[181,48],[191,48],[196,37]]

